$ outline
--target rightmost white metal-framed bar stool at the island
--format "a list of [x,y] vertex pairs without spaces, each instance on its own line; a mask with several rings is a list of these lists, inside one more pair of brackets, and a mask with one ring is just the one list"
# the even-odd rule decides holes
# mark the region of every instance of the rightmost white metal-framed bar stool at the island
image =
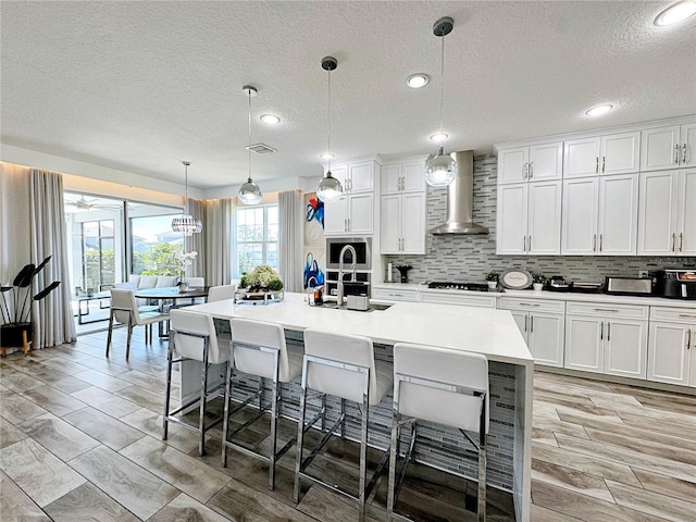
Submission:
[[[388,520],[417,442],[419,420],[459,428],[478,452],[478,520],[486,520],[486,436],[488,433],[488,360],[480,353],[399,343],[394,346],[394,411],[389,457]],[[401,420],[401,417],[407,419]],[[409,448],[397,474],[401,426],[411,425]],[[476,443],[469,433],[478,435]],[[407,519],[405,519],[407,520]]]

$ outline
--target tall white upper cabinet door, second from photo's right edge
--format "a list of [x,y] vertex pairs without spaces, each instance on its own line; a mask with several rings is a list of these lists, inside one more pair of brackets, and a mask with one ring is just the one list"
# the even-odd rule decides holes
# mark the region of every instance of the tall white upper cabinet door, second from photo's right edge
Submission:
[[[674,254],[676,225],[676,171],[639,175],[638,256]],[[682,236],[683,237],[683,236]]]

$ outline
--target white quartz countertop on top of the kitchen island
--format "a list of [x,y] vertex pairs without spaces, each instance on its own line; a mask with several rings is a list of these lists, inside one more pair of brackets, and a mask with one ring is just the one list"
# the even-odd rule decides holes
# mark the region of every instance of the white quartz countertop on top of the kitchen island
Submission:
[[493,361],[531,365],[533,358],[509,311],[456,304],[397,302],[387,310],[360,312],[310,307],[303,294],[286,293],[270,304],[207,302],[186,310],[219,319],[246,318],[302,332],[321,328],[364,335],[375,343],[420,345],[473,351]]

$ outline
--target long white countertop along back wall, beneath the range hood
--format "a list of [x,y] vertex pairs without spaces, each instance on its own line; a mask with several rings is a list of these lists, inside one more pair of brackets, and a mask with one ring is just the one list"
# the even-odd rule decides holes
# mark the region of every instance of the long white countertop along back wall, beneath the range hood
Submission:
[[424,284],[418,283],[378,283],[373,285],[374,288],[387,288],[387,289],[410,289],[422,293],[447,293],[453,295],[469,295],[469,296],[494,296],[512,297],[523,299],[551,299],[559,301],[592,301],[592,302],[605,302],[614,304],[643,304],[646,307],[667,307],[667,308],[687,308],[696,310],[696,301],[685,299],[667,299],[663,297],[636,297],[636,296],[610,296],[607,294],[585,294],[580,291],[549,291],[542,290],[535,291],[529,290],[510,290],[505,291],[492,290],[492,291],[473,291],[473,290],[448,290],[443,288],[428,288]]

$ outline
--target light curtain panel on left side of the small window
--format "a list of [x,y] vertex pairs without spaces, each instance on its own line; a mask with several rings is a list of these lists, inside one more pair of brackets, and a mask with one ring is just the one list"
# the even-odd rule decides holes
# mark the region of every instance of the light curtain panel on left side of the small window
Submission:
[[232,238],[235,198],[209,199],[204,204],[206,284],[232,283]]

